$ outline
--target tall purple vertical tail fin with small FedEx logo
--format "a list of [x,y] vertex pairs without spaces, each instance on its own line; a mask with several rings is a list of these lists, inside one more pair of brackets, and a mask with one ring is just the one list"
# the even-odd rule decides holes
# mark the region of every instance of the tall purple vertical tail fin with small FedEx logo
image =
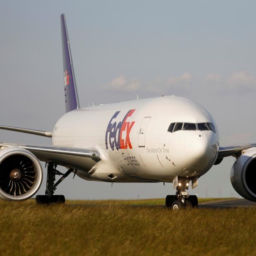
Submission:
[[63,72],[64,72],[64,90],[66,112],[80,108],[79,99],[76,89],[76,79],[74,74],[73,62],[71,57],[69,36],[66,28],[65,14],[60,16],[62,29],[62,57],[63,57]]

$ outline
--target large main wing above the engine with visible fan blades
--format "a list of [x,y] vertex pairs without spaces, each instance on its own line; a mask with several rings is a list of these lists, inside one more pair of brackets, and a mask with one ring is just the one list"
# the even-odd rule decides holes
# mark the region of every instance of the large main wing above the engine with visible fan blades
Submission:
[[73,169],[91,170],[101,160],[100,153],[93,148],[71,148],[59,146],[22,145],[0,143],[0,148],[19,147],[29,150],[43,162],[53,162]]

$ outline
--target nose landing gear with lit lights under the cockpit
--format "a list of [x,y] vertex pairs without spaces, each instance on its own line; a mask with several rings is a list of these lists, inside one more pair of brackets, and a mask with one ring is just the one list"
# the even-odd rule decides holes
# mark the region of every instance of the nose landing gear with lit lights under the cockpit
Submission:
[[[192,188],[193,182],[197,182],[197,179],[192,180]],[[197,184],[196,184],[197,185]],[[196,187],[194,185],[194,187]],[[191,209],[198,206],[197,196],[189,195],[186,190],[188,190],[189,180],[184,177],[176,177],[173,180],[173,187],[176,188],[176,195],[167,195],[165,198],[165,205],[167,208],[171,208],[173,210],[181,210],[181,209]]]

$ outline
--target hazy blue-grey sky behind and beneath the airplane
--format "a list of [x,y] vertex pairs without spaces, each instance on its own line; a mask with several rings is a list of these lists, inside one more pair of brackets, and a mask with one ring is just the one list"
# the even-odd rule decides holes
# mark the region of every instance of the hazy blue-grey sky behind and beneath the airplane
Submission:
[[[254,1],[2,1],[2,125],[51,130],[64,113],[60,15],[66,14],[82,106],[179,95],[217,121],[221,145],[256,142]],[[47,138],[0,131],[7,142]],[[225,159],[191,193],[237,195]],[[67,189],[68,187],[68,189]],[[44,187],[41,189],[41,193]],[[67,198],[165,197],[172,186],[67,179]]]

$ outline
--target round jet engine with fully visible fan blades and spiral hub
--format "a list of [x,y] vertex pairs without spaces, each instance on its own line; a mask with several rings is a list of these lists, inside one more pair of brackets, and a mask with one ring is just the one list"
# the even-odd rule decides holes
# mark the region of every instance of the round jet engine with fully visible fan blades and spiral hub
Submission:
[[30,151],[19,147],[0,150],[0,199],[29,199],[39,190],[42,179],[42,166]]

